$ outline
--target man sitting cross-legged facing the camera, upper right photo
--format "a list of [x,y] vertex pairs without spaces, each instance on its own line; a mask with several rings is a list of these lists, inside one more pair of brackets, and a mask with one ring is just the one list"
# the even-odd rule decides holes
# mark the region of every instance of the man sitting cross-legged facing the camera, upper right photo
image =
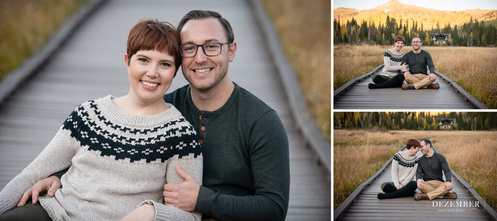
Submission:
[[[404,55],[402,59],[402,64],[406,63],[408,65],[407,69],[401,70],[408,83],[402,85],[402,89],[439,89],[438,83],[432,84],[435,82],[436,76],[431,55],[425,50],[421,50],[421,38],[414,37],[412,43],[413,50]],[[429,73],[426,71],[426,66],[428,66]]]

